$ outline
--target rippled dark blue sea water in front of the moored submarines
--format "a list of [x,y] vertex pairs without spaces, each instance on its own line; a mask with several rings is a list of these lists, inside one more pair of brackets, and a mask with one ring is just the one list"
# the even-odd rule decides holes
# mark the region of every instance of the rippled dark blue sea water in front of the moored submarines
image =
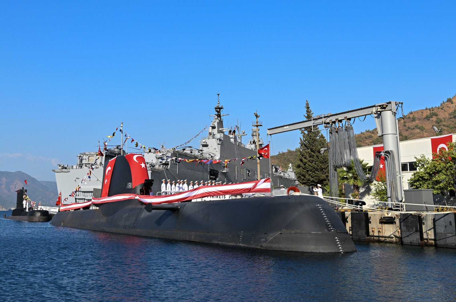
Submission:
[[456,250],[359,244],[309,254],[3,219],[2,301],[456,300]]

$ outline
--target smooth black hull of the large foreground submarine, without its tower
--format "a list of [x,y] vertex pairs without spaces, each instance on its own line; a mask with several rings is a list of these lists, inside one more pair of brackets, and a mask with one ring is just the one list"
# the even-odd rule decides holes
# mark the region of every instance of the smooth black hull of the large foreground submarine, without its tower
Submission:
[[144,205],[131,199],[62,211],[52,225],[295,252],[355,252],[341,219],[317,196],[261,196]]

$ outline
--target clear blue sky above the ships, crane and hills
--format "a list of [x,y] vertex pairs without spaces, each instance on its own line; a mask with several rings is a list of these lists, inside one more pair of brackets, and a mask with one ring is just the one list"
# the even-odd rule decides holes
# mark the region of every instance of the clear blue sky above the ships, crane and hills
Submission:
[[[2,1],[0,171],[54,181],[120,121],[147,146],[456,93],[452,1]],[[373,119],[355,131],[373,129]],[[273,136],[275,153],[299,131]],[[197,142],[194,143],[197,145]]]

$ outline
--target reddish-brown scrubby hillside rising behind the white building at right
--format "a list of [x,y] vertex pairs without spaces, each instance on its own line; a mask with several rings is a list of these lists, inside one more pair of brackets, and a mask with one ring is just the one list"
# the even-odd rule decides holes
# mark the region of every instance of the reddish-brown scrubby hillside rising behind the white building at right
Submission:
[[[456,96],[447,98],[440,106],[410,111],[405,114],[404,119],[399,119],[398,125],[401,141],[455,133]],[[432,126],[440,129],[440,132],[435,134]],[[382,137],[377,136],[377,129],[361,132],[355,138],[358,147],[383,143]]]

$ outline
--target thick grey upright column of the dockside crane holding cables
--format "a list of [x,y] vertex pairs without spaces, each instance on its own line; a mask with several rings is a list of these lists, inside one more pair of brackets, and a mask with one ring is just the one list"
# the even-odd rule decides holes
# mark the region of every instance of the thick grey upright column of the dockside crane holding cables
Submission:
[[[382,136],[383,136],[383,149],[391,150],[394,152],[394,161],[396,164],[396,181],[398,187],[402,186],[402,179],[400,178],[400,153],[399,153],[399,139],[396,128],[396,102],[391,102],[392,111],[382,111],[380,118],[382,121]],[[388,207],[392,207],[392,195],[394,192],[390,192],[389,184],[391,179],[389,179],[389,173],[386,173],[386,187],[388,191]],[[399,200],[402,199],[402,190],[397,192]]]

